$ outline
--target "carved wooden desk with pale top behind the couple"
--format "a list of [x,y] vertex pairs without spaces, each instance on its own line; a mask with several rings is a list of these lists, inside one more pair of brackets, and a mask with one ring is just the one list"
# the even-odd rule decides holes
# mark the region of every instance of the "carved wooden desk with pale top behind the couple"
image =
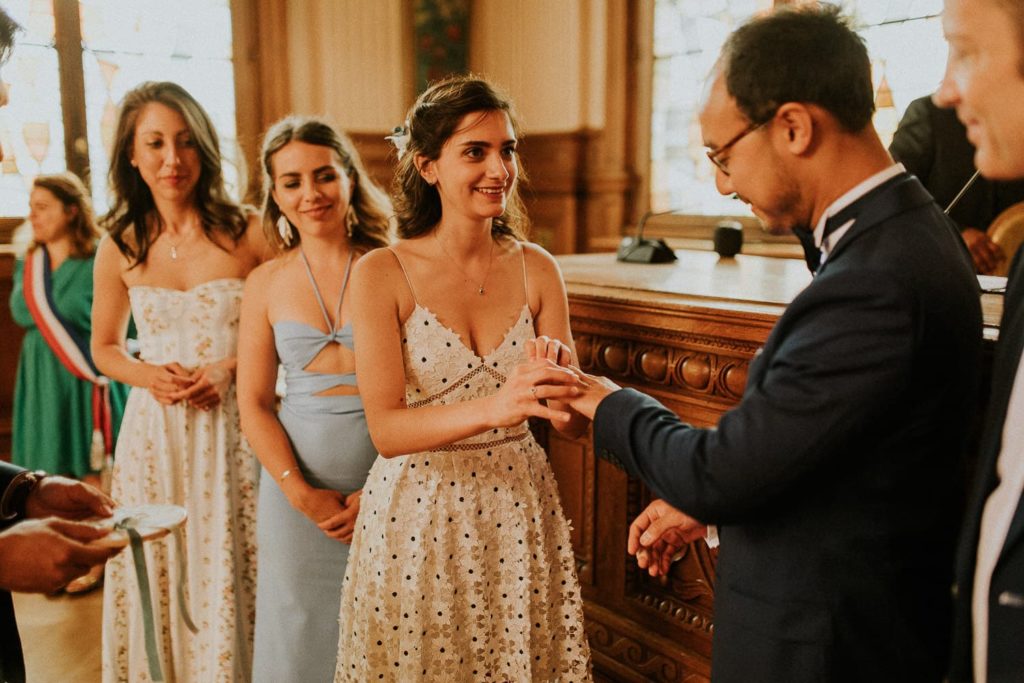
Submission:
[[[751,358],[811,275],[793,259],[677,254],[665,265],[616,263],[611,254],[558,261],[583,368],[711,426],[739,400]],[[988,296],[986,337],[994,337],[999,310],[1001,298]],[[650,499],[646,487],[595,459],[586,439],[547,438],[572,520],[598,680],[709,680],[717,553],[693,544],[667,582],[647,577],[626,553],[629,524]]]

